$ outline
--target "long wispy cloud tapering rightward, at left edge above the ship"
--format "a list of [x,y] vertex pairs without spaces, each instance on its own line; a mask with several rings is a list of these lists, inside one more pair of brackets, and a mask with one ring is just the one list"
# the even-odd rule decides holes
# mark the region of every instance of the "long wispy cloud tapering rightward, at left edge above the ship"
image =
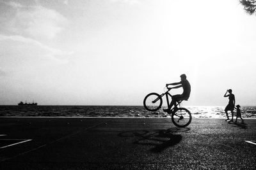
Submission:
[[[51,60],[57,63],[68,62],[67,56],[71,55],[72,52],[63,52],[62,50],[51,48],[50,46],[44,45],[39,41],[31,38],[24,38],[23,36],[4,36],[0,35],[0,48],[1,58],[9,60],[15,58],[15,60]],[[1,60],[0,58],[0,60]],[[13,61],[15,61],[13,60]]]

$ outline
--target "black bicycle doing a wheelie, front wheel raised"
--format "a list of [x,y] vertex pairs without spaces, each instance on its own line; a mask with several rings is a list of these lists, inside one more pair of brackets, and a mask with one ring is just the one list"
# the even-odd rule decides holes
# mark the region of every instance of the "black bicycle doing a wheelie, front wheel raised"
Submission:
[[[163,104],[162,97],[164,95],[166,96],[167,106],[169,108],[170,103],[169,103],[168,96],[172,97],[172,95],[169,93],[170,90],[171,89],[168,89],[166,92],[164,92],[161,95],[155,92],[148,94],[143,101],[143,105],[145,109],[148,111],[159,110],[159,108],[161,108]],[[187,101],[188,99],[183,99],[183,100]],[[172,114],[172,122],[177,127],[186,127],[191,123],[191,120],[192,120],[190,111],[187,110],[186,108],[180,108],[180,103],[182,103],[183,100],[177,101],[175,103],[175,106],[172,108],[172,110],[170,110],[170,113]]]

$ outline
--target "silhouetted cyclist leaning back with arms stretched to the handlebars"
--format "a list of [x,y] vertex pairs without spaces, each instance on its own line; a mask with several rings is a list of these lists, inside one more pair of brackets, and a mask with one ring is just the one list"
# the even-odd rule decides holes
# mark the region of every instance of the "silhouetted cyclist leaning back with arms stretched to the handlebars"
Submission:
[[[174,105],[174,108],[173,110],[177,109],[177,106],[175,106],[175,104],[178,102],[178,101],[182,101],[182,100],[188,100],[189,96],[190,96],[190,91],[191,91],[191,87],[190,87],[190,83],[189,81],[187,80],[187,76],[186,74],[181,74],[180,75],[180,82],[177,82],[177,83],[170,83],[170,84],[166,84],[166,87],[168,90],[170,89],[178,89],[180,87],[183,88],[183,93],[182,94],[177,94],[177,95],[173,95],[172,96],[172,102],[170,103],[170,106],[168,109],[164,109],[163,111],[165,112],[172,112],[171,111],[171,108],[172,106]],[[168,87],[169,85],[177,85],[175,87]]]

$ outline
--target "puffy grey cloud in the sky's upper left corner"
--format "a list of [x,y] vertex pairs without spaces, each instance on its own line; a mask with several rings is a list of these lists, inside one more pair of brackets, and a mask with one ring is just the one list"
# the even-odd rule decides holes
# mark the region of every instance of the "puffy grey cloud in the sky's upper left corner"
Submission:
[[58,11],[44,6],[23,6],[9,2],[15,10],[15,15],[10,15],[6,30],[12,34],[19,34],[35,39],[52,39],[67,25],[67,19]]

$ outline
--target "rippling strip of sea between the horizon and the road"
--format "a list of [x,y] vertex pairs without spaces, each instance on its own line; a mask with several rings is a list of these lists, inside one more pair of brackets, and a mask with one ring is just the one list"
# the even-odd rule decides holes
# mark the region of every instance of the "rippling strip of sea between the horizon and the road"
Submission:
[[[225,106],[186,106],[193,118],[226,118]],[[256,118],[256,106],[242,106],[243,118]],[[228,114],[231,116],[230,111]],[[234,111],[236,116],[236,110]],[[0,106],[0,117],[170,117],[143,106]]]

